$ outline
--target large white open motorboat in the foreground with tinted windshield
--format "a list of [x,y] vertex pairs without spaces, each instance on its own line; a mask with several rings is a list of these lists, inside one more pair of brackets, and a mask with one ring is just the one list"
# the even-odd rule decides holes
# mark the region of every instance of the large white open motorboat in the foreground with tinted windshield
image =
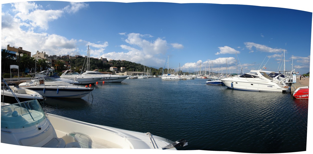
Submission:
[[172,142],[151,133],[86,123],[44,113],[37,100],[1,103],[1,143],[49,148],[119,148],[177,150]]

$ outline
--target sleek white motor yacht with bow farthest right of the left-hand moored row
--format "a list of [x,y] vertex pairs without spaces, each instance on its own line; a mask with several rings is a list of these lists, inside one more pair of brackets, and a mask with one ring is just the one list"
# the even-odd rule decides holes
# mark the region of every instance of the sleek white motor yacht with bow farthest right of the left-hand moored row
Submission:
[[86,71],[86,72],[82,73],[81,75],[101,77],[102,79],[100,79],[99,81],[104,81],[104,82],[122,82],[123,80],[125,80],[128,77],[128,76],[124,76],[124,75],[102,74],[102,73],[97,72],[97,71]]

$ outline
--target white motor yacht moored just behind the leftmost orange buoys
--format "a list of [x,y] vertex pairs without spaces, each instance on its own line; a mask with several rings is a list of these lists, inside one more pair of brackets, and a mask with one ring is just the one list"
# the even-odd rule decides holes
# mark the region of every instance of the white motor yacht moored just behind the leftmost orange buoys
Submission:
[[79,84],[95,84],[102,79],[102,77],[97,76],[81,75],[74,70],[66,70],[60,77],[77,81]]

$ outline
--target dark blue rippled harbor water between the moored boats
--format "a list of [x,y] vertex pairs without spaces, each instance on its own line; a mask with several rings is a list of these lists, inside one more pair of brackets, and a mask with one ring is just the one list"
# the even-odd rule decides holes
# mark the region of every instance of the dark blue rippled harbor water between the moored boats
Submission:
[[43,102],[45,112],[172,141],[178,150],[282,153],[306,150],[308,100],[289,93],[249,92],[207,79],[126,79],[99,83],[82,99]]

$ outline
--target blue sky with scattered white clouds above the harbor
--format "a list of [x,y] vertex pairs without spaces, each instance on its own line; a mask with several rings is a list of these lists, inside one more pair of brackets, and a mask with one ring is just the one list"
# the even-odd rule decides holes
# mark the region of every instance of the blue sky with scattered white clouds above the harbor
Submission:
[[169,55],[172,69],[180,66],[193,72],[201,63],[201,70],[210,65],[214,72],[223,73],[226,62],[228,73],[236,73],[237,68],[240,73],[240,67],[246,73],[265,64],[269,71],[284,70],[285,51],[285,70],[310,71],[312,8],[299,7],[305,5],[301,0],[270,5],[8,2],[2,1],[1,7],[2,49],[10,44],[32,54],[84,56],[89,45],[94,58],[167,68]]

